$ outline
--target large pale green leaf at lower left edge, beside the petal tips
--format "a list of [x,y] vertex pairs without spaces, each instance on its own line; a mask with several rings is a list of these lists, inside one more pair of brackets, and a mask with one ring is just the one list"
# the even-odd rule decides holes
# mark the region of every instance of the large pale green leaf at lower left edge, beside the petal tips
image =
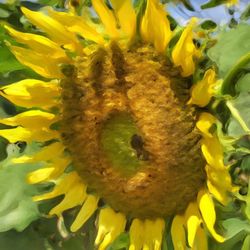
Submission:
[[0,232],[12,228],[22,231],[40,215],[36,203],[32,201],[36,188],[26,183],[27,173],[36,169],[36,166],[13,164],[11,159],[19,155],[19,151],[17,145],[8,145],[8,158],[1,162]]

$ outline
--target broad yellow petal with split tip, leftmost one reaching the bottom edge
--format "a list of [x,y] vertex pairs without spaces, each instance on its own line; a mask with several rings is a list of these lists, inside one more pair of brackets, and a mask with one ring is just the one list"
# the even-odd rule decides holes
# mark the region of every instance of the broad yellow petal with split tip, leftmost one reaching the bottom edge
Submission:
[[98,249],[105,250],[124,231],[125,225],[126,217],[124,214],[116,213],[109,207],[101,209],[95,240],[96,245],[101,243]]

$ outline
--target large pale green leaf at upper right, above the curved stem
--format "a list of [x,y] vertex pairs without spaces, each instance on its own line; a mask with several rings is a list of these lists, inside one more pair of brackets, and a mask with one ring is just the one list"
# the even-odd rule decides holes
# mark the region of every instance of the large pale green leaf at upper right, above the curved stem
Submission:
[[235,29],[219,34],[217,44],[209,49],[208,56],[219,68],[220,77],[225,77],[237,61],[250,52],[250,26],[240,24]]

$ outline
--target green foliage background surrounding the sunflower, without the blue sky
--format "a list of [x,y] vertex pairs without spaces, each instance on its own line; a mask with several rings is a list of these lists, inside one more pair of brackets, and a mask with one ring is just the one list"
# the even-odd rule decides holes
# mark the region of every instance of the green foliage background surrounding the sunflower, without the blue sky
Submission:
[[[169,1],[162,1],[169,2]],[[178,2],[178,1],[174,1]],[[192,8],[190,1],[183,1]],[[210,1],[203,8],[213,7],[223,1]],[[90,0],[82,1],[91,6]],[[135,1],[142,8],[144,0]],[[3,24],[11,24],[18,30],[38,32],[23,17],[20,6],[39,9],[50,5],[64,8],[62,0],[5,1],[0,3],[0,84],[1,86],[25,78],[41,78],[32,70],[20,64],[8,49],[8,42],[15,41],[5,32]],[[140,10],[138,11],[140,12]],[[173,18],[173,26],[178,25]],[[219,128],[221,143],[224,145],[225,161],[232,165],[231,174],[235,184],[241,186],[235,201],[228,207],[217,204],[217,227],[225,232],[228,240],[218,244],[210,239],[209,249],[235,250],[250,249],[250,60],[242,63],[242,58],[250,53],[249,8],[242,14],[239,24],[219,27],[213,20],[201,24],[206,32],[208,47],[206,60],[211,60],[217,67],[219,77],[224,79],[222,92],[210,107],[222,122]],[[211,43],[211,45],[210,45]],[[214,45],[215,44],[215,45]],[[204,71],[201,66],[200,71]],[[194,78],[196,79],[196,78]],[[0,117],[8,117],[19,110],[11,103],[0,98]],[[0,125],[4,128],[3,125]],[[13,164],[11,160],[26,152],[32,152],[39,145],[26,147],[23,143],[8,144],[0,138],[0,249],[1,250],[91,250],[94,249],[96,235],[95,216],[77,233],[68,231],[77,209],[64,214],[64,220],[47,218],[46,213],[62,197],[48,202],[34,203],[32,196],[51,188],[48,185],[28,185],[26,174],[39,166],[34,164]],[[223,181],[223,180],[222,180]],[[170,221],[169,225],[170,226]],[[164,250],[173,249],[170,235],[166,234]],[[109,250],[127,249],[129,236],[123,233],[109,247]]]

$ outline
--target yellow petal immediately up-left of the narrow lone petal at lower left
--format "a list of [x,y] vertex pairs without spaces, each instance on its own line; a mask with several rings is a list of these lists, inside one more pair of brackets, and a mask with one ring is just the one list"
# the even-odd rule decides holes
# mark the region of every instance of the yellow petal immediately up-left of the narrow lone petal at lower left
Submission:
[[81,205],[87,197],[86,189],[87,187],[83,183],[74,183],[70,190],[65,193],[64,199],[51,209],[49,215],[60,216],[63,211]]

